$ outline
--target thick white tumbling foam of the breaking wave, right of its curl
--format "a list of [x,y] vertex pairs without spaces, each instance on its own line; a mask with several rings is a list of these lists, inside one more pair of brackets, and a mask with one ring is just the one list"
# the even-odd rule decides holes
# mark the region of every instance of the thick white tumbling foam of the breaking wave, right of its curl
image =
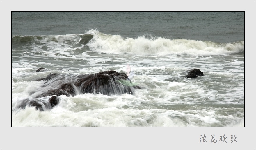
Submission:
[[97,30],[89,30],[93,34],[87,46],[95,52],[107,54],[135,55],[227,55],[244,51],[244,41],[235,43],[216,43],[211,41],[195,41],[188,39],[166,39],[162,37],[147,39],[124,39],[120,35],[106,35]]

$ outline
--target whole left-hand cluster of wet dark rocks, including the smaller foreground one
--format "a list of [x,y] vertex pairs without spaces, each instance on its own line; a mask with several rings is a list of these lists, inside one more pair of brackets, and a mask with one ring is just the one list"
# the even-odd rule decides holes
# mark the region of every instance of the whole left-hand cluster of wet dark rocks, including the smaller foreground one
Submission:
[[[39,68],[36,72],[41,72],[44,69]],[[134,94],[135,89],[141,89],[138,85],[127,84],[127,82],[131,83],[131,81],[125,73],[113,70],[96,74],[50,73],[46,78],[40,78],[37,81],[45,81],[40,89],[42,93],[35,95],[35,98],[21,100],[22,103],[18,108],[35,106],[36,109],[43,111],[56,106],[60,102],[58,96],[61,95],[75,96],[81,93],[101,93],[105,95]],[[123,81],[126,81],[126,84]],[[51,96],[51,98],[45,100],[43,97],[46,96]]]

